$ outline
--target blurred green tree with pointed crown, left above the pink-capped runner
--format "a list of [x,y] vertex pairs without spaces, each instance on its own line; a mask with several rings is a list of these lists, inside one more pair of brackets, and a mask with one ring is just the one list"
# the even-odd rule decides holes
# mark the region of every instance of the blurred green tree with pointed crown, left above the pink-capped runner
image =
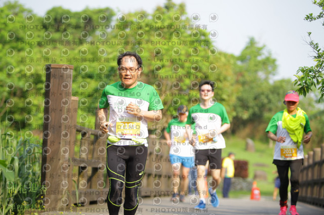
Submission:
[[246,47],[237,57],[236,83],[240,86],[235,104],[233,132],[244,128],[251,122],[262,121],[265,113],[273,110],[270,77],[275,74],[276,60],[267,51],[266,46],[259,46],[250,38]]

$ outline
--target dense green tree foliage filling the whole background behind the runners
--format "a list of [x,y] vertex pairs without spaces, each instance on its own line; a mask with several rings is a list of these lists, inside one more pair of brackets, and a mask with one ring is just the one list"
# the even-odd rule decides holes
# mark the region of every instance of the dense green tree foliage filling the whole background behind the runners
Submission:
[[[179,104],[199,101],[201,80],[216,82],[215,98],[224,104],[231,132],[264,136],[292,81],[273,81],[276,60],[250,38],[239,56],[214,46],[215,32],[194,25],[184,4],[167,1],[152,14],[116,14],[110,8],[71,12],[55,7],[39,17],[17,2],[1,8],[0,117],[11,129],[41,131],[46,64],[74,66],[72,95],[79,97],[78,124],[94,128],[102,89],[119,80],[116,57],[125,50],[143,59],[140,80],[155,87],[165,109],[152,129],[163,130]],[[311,115],[313,99],[301,101]]]

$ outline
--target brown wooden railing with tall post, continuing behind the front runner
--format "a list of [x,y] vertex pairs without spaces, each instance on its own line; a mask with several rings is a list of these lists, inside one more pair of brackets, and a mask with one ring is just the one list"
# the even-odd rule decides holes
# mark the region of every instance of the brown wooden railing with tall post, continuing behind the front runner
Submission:
[[[106,135],[76,125],[78,98],[72,95],[71,65],[46,65],[42,179],[44,206],[64,211],[73,204],[105,204]],[[149,135],[148,156],[139,196],[171,194],[172,172],[165,140]],[[76,151],[78,153],[76,154]]]

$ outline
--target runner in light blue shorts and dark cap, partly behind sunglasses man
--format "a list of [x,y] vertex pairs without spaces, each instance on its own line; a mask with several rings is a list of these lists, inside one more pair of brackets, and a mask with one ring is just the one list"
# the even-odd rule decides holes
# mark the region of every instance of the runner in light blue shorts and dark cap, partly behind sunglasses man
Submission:
[[[186,105],[180,105],[178,108],[178,118],[172,119],[164,135],[170,147],[170,162],[173,172],[173,194],[172,201],[177,202],[179,197],[180,201],[184,201],[185,191],[188,188],[190,168],[194,165],[193,149],[190,145],[188,136],[186,134],[186,122],[188,117],[188,108]],[[171,133],[171,137],[170,137]],[[180,169],[182,166],[181,182],[180,182]],[[180,185],[180,196],[178,188]]]

